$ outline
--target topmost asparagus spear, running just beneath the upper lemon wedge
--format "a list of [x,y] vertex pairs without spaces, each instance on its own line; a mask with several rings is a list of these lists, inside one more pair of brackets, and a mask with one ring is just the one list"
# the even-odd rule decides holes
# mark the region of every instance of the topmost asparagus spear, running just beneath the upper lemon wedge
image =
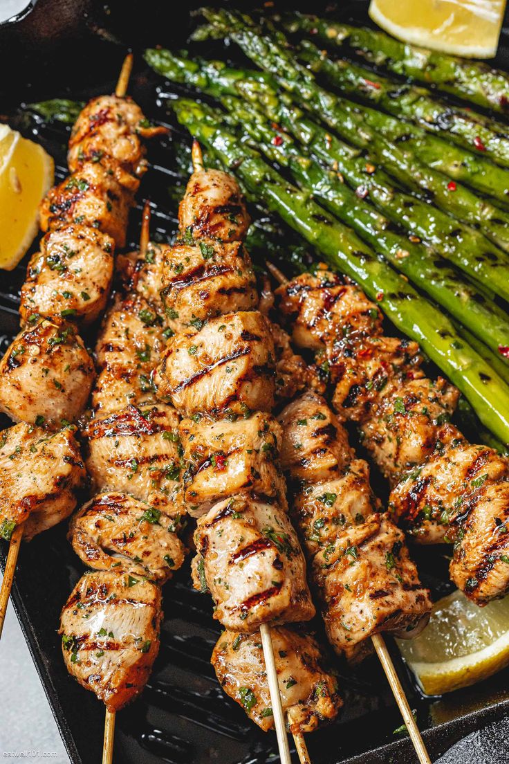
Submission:
[[425,84],[433,83],[460,99],[496,112],[507,112],[509,76],[485,63],[424,50],[395,40],[385,32],[335,24],[317,16],[295,14],[292,18],[295,28],[317,34],[328,43],[347,46],[395,74],[414,77]]

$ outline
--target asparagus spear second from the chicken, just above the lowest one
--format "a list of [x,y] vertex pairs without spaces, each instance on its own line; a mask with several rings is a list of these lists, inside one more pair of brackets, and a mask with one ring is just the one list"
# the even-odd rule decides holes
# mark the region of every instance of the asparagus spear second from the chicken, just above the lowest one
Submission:
[[[388,220],[342,183],[337,173],[305,156],[287,134],[275,132],[262,112],[240,99],[224,96],[235,128],[246,129],[270,160],[287,166],[302,190],[310,191],[329,211],[382,254],[418,288],[462,321],[495,353],[509,345],[507,314],[486,299],[446,261],[422,244],[408,241]],[[500,361],[504,365],[503,361]],[[509,368],[507,369],[509,374]]]

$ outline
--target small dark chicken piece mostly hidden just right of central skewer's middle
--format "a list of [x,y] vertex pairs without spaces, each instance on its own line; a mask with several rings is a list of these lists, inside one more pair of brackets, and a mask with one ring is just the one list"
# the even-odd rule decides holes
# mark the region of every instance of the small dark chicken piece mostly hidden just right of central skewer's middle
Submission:
[[290,338],[284,329],[273,322],[270,332],[275,348],[275,397],[289,400],[301,390],[311,388],[324,393],[325,385],[316,366],[308,366],[301,355],[292,350]]

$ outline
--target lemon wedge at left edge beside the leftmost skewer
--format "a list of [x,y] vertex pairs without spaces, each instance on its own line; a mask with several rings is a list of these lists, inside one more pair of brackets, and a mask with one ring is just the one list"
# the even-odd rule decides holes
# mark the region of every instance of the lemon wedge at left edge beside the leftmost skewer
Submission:
[[39,202],[53,174],[42,146],[0,125],[0,268],[12,270],[34,241]]

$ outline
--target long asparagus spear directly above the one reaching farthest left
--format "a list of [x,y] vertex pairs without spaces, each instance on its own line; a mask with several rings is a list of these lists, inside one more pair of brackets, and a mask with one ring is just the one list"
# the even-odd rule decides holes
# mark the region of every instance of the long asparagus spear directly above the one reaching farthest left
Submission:
[[[367,108],[360,108],[358,105],[339,99],[337,95],[319,87],[313,74],[297,63],[282,46],[281,40],[284,37],[282,33],[277,33],[277,40],[273,36],[265,36],[249,17],[231,11],[205,9],[204,13],[208,21],[217,24],[225,35],[230,35],[258,66],[275,75],[279,84],[292,92],[305,108],[324,119],[327,125],[347,141],[357,147],[369,149],[370,153],[377,160],[383,161],[391,174],[403,183],[407,185],[418,183],[418,186],[425,189],[436,204],[453,212],[453,215],[460,220],[475,225],[482,218],[483,202],[474,193],[463,186],[456,186],[455,191],[452,192],[448,188],[449,180],[441,173],[436,173],[419,163],[411,151],[404,149],[404,143],[396,145],[384,138],[381,128],[377,129],[376,124],[387,119],[387,115],[372,109],[370,117],[367,118]],[[397,121],[395,122],[397,124]],[[497,212],[501,211],[497,209]],[[503,236],[507,237],[507,230],[503,223],[498,225],[496,215],[493,225],[487,223],[487,235],[488,231],[497,243],[500,243]],[[484,236],[478,235],[484,240],[484,246],[494,249],[490,248]]]

